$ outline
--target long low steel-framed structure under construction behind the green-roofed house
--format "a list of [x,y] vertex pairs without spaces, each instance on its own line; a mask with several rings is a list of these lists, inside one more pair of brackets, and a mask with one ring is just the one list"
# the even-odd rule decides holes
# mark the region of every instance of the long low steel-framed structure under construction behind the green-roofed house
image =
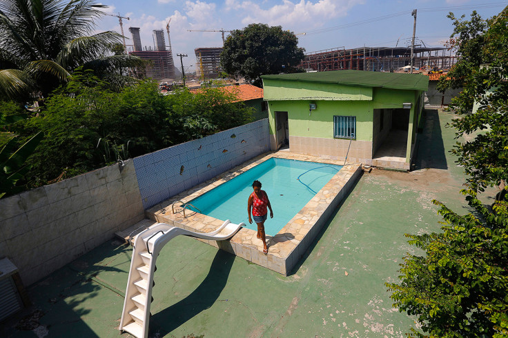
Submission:
[[[456,62],[447,48],[418,47],[413,50],[413,69],[448,70]],[[375,72],[408,71],[411,64],[411,47],[361,47],[318,50],[305,54],[300,67],[307,72],[326,70],[368,70]]]

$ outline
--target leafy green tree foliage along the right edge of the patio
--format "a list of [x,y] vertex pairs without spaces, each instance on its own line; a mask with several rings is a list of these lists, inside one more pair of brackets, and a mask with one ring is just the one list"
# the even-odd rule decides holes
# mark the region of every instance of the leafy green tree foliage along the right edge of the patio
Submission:
[[[442,232],[406,235],[423,255],[404,257],[400,283],[386,285],[393,306],[417,317],[424,334],[411,328],[411,337],[508,336],[508,187],[491,207],[477,195],[507,179],[507,9],[486,22],[476,12],[471,21],[449,15],[461,59],[440,86],[464,87],[453,99],[460,117],[451,126],[457,138],[467,138],[451,152],[469,176],[462,193],[472,212],[460,216],[433,201],[444,219]],[[471,114],[473,103],[478,110]]]

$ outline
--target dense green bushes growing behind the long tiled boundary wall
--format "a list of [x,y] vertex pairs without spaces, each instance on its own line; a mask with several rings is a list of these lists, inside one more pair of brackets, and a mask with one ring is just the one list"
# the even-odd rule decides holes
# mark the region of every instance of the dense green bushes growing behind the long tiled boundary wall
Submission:
[[151,81],[120,92],[108,88],[91,70],[77,70],[48,97],[37,116],[16,124],[20,141],[37,132],[46,135],[28,159],[31,187],[241,126],[251,119],[250,109],[217,88],[196,95],[182,89],[167,96]]

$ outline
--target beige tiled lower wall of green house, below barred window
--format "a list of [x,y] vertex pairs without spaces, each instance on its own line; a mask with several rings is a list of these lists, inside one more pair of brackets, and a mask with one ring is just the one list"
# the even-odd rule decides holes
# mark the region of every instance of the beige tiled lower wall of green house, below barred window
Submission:
[[291,152],[299,152],[305,155],[322,157],[324,159],[346,158],[349,163],[361,162],[372,165],[372,142],[351,141],[349,139],[324,139],[320,137],[289,137],[289,149]]

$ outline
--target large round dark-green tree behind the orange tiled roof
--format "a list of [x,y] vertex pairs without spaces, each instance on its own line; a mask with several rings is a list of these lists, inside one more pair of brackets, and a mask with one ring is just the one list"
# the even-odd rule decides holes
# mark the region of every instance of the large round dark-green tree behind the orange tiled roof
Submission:
[[221,66],[229,74],[261,86],[261,75],[297,71],[304,58],[304,48],[297,44],[295,34],[281,26],[251,23],[242,30],[233,30],[226,39]]

